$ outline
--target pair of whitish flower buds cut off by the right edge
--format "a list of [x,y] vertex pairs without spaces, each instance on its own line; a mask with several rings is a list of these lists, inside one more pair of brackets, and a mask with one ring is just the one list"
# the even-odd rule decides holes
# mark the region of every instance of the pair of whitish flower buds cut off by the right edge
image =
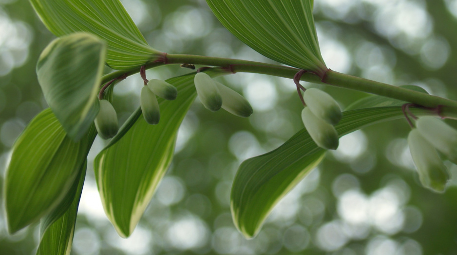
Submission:
[[408,145],[421,184],[443,192],[450,174],[437,151],[457,164],[457,131],[437,118],[421,117],[408,135]]

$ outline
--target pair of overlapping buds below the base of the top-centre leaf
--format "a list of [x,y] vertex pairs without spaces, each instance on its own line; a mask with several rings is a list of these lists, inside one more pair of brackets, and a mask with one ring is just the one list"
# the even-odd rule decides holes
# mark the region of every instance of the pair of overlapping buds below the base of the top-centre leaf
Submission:
[[334,125],[343,114],[338,103],[327,93],[317,88],[308,88],[303,94],[306,103],[302,120],[314,142],[326,150],[336,150],[339,145]]

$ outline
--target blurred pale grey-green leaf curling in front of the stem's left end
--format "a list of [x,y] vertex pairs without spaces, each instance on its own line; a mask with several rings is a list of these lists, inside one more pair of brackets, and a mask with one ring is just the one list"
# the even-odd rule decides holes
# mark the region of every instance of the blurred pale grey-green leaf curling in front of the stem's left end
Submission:
[[79,140],[99,110],[106,46],[92,34],[76,33],[52,41],[37,63],[44,98],[68,136]]

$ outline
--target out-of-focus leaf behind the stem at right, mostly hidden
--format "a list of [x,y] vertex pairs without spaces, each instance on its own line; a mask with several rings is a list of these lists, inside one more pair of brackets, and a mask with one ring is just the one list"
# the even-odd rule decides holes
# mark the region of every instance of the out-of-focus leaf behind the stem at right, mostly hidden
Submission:
[[[428,94],[425,89],[416,85],[401,85],[400,87]],[[408,102],[378,95],[371,95],[351,103],[349,106],[346,107],[346,111],[371,107],[401,106],[405,103]]]

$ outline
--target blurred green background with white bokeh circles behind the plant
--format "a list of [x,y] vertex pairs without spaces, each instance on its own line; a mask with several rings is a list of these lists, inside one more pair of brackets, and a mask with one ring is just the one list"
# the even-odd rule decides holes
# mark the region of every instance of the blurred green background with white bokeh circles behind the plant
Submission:
[[[223,28],[204,0],[121,1],[160,51],[274,63]],[[315,18],[329,68],[457,99],[457,0],[315,0]],[[47,107],[35,65],[53,38],[28,1],[0,0],[0,186],[13,142]],[[187,72],[170,66],[147,74],[167,79]],[[244,239],[229,209],[237,167],[302,129],[302,106],[288,79],[246,73],[219,79],[243,92],[254,114],[211,113],[197,99],[179,130],[172,166],[128,239],[117,236],[100,204],[92,162],[105,141],[95,139],[72,254],[457,254],[457,167],[446,162],[453,180],[444,194],[421,187],[404,119],[341,138],[338,150],[276,206],[260,234]],[[120,122],[138,107],[141,87],[137,76],[115,87]],[[343,108],[366,96],[318,87]],[[1,206],[0,254],[35,254],[38,225],[8,235]]]

